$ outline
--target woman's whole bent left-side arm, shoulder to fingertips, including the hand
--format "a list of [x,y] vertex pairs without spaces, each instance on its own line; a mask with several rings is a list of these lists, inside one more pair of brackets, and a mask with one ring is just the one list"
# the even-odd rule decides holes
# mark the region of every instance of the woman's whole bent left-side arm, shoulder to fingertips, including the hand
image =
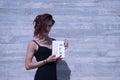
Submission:
[[27,54],[26,54],[26,58],[25,58],[25,68],[26,68],[26,70],[38,68],[40,66],[43,66],[46,63],[56,61],[59,58],[59,57],[56,58],[55,55],[50,55],[45,60],[41,60],[41,61],[38,61],[38,62],[33,62],[32,59],[33,59],[35,51],[37,50],[36,47],[37,47],[37,45],[34,42],[30,42],[28,44]]

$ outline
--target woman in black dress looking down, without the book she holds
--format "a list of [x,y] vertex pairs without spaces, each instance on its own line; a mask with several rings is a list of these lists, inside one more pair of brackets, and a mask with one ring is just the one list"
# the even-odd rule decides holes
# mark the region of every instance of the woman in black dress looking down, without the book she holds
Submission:
[[[34,80],[57,80],[56,64],[61,58],[52,55],[52,41],[49,32],[55,21],[51,14],[38,15],[34,20],[34,40],[28,44],[25,59],[27,70],[38,68]],[[65,48],[68,47],[68,41],[64,41]],[[32,59],[35,56],[36,62]]]

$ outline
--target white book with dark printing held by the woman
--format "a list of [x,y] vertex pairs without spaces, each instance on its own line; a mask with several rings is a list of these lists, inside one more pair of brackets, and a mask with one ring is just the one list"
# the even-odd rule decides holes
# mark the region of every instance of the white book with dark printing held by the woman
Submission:
[[61,58],[65,57],[64,41],[52,42],[52,55],[56,55],[56,57],[61,56]]

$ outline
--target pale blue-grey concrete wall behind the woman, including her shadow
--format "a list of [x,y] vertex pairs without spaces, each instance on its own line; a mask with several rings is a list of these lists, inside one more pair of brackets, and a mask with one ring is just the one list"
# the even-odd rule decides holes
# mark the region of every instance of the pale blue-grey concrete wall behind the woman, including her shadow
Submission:
[[120,80],[120,0],[0,0],[0,80],[33,80],[26,48],[33,19],[47,12],[50,36],[69,40],[58,80]]

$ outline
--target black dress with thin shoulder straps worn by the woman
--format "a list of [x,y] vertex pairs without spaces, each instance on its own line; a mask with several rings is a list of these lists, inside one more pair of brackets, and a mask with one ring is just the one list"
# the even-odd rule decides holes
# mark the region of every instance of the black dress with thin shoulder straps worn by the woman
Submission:
[[[35,58],[37,61],[47,59],[52,54],[52,49],[38,45],[38,51],[35,52]],[[56,62],[47,63],[41,67],[38,67],[34,80],[57,80],[56,74]]]

